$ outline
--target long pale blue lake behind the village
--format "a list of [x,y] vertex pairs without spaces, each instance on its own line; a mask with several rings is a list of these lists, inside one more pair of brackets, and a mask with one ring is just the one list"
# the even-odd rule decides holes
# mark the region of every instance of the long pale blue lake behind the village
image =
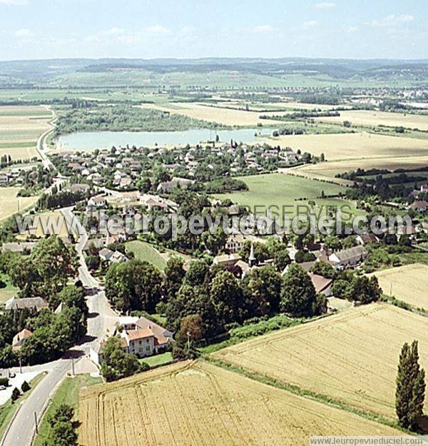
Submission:
[[197,144],[201,141],[213,141],[218,135],[220,141],[233,141],[252,143],[260,136],[272,136],[271,128],[240,128],[237,130],[210,130],[198,128],[186,131],[91,131],[78,132],[58,138],[57,147],[60,150],[84,151],[94,148],[111,148],[111,146],[173,146],[184,144]]

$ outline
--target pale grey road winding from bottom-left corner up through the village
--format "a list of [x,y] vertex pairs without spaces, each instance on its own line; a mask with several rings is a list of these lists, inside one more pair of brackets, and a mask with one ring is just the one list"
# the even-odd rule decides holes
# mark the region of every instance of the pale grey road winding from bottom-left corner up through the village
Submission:
[[[73,219],[72,208],[64,208],[61,212],[68,221]],[[83,247],[88,240],[88,234],[84,228],[79,228],[79,233],[81,235],[75,246],[81,264],[78,269],[79,278],[86,288],[91,289],[91,293],[87,296],[89,308],[88,340],[86,343],[68,351],[65,355],[67,358],[69,356],[87,354],[91,345],[103,339],[106,331],[114,326],[118,318],[118,315],[111,309],[106,299],[103,287],[89,273],[85,259],[83,258]],[[31,444],[35,432],[34,412],[36,412],[40,419],[56,387],[66,377],[67,372],[71,370],[71,361],[71,359],[61,359],[54,363],[35,365],[30,368],[31,370],[43,370],[49,373],[39,382],[34,391],[31,392],[31,395],[22,402],[21,408],[11,423],[9,431],[4,436],[3,441],[0,442],[0,446],[29,446]],[[26,370],[29,370],[29,368],[26,368]],[[19,372],[16,368],[14,371]]]

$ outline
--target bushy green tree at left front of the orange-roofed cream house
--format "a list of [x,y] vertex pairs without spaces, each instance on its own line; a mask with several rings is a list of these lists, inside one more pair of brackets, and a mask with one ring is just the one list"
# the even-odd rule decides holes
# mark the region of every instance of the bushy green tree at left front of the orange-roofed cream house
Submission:
[[108,338],[104,345],[101,373],[106,381],[120,380],[123,377],[135,375],[140,371],[136,355],[122,350],[120,338]]

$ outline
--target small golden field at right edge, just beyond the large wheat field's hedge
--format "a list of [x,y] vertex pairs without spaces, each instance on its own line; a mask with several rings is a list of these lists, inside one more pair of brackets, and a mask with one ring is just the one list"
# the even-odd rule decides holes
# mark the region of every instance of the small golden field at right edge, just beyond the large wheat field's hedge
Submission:
[[374,273],[383,292],[428,310],[428,266],[421,263]]

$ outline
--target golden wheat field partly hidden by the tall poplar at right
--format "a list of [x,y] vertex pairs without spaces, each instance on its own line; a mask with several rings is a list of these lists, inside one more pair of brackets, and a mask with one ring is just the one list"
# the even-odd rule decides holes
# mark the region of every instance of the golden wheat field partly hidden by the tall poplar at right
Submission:
[[428,366],[428,319],[386,304],[352,308],[296,328],[233,345],[213,355],[394,419],[402,345],[419,340]]

